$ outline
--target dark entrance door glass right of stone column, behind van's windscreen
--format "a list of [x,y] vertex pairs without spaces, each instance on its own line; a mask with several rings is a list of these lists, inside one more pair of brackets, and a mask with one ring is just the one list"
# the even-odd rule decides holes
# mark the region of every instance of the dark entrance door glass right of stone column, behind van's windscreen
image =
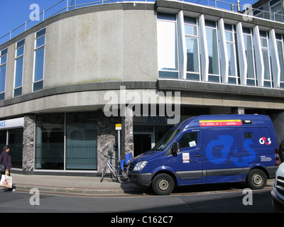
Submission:
[[150,150],[155,145],[154,133],[134,133],[134,157]]

